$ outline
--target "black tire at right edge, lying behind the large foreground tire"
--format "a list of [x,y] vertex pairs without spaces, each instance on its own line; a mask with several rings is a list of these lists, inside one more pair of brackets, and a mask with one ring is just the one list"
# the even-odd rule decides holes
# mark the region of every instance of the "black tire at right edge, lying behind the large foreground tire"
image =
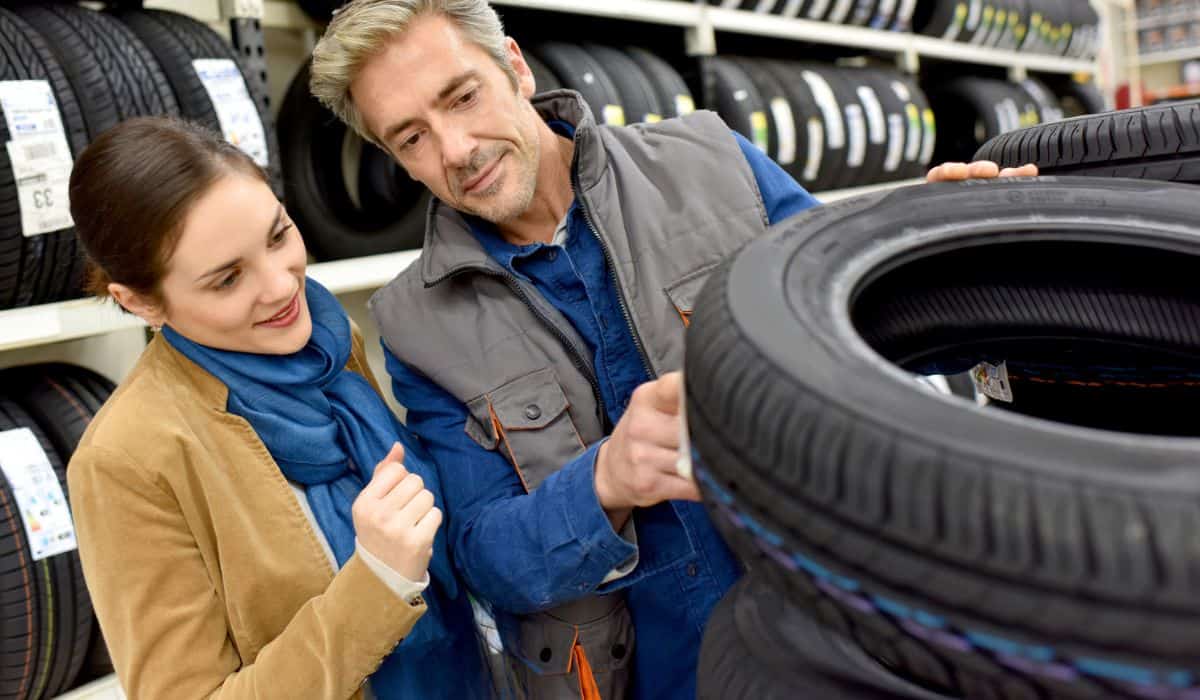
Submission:
[[1044,174],[1200,183],[1200,100],[1076,116],[994,138],[977,157]]

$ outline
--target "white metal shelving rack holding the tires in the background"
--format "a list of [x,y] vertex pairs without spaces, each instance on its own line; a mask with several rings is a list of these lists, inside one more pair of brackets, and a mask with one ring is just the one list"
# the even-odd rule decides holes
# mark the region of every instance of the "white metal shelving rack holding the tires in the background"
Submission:
[[[1106,14],[1109,2],[1121,0],[1094,0],[1102,14]],[[304,60],[320,31],[320,25],[305,14],[298,5],[287,0],[134,0],[148,8],[182,12],[209,23],[229,37],[239,53],[257,54],[257,47],[266,44],[266,59],[274,72],[268,71],[268,60],[258,66],[263,79],[270,78],[272,104],[277,106],[287,82]],[[958,61],[1008,68],[1009,78],[1020,79],[1028,71],[1049,73],[1088,73],[1098,76],[1099,64],[1056,56],[1021,54],[997,49],[985,49],[962,43],[913,34],[899,34],[857,26],[844,26],[805,19],[787,19],[712,7],[696,2],[671,0],[493,0],[500,12],[505,7],[521,7],[552,13],[587,14],[618,18],[630,22],[678,26],[685,32],[688,53],[694,56],[715,55],[724,32],[768,36],[798,42],[845,46],[864,52],[889,53],[898,66],[916,73],[920,58]],[[276,30],[287,30],[283,32]],[[1111,36],[1111,32],[1110,32]],[[278,50],[277,50],[278,49]],[[278,59],[287,55],[281,71]],[[282,74],[280,74],[282,73]],[[822,202],[853,197],[857,195],[890,190],[916,184],[919,180],[901,180],[882,185],[853,187],[848,190],[818,192]],[[366,334],[366,347],[372,370],[384,371],[378,335],[366,313],[366,299],[371,292],[386,283],[396,274],[412,264],[420,251],[400,251],[310,265],[310,274],[337,294],[349,315]],[[110,304],[90,299],[77,299],[42,306],[30,306],[0,311],[0,367],[65,361],[86,366],[119,381],[133,366],[148,341],[148,330],[140,319],[122,313]],[[388,396],[389,402],[391,397]],[[392,403],[394,408],[398,408]],[[94,681],[61,698],[72,700],[124,699],[124,693],[114,676]]]

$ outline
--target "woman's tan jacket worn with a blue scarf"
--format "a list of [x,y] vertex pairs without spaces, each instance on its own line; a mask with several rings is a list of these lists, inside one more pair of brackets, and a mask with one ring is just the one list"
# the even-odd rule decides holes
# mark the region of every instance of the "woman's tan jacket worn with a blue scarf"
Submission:
[[[348,364],[365,375],[361,339]],[[425,612],[355,555],[335,574],[228,390],[155,337],[71,460],[84,576],[138,698],[360,698]]]

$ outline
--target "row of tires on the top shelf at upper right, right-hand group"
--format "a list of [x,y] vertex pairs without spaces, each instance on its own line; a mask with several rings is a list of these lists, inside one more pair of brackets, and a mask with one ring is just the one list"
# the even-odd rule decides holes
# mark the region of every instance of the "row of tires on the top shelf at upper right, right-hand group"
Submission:
[[1094,58],[1100,42],[1090,0],[928,0],[912,22],[947,41],[1076,59]]

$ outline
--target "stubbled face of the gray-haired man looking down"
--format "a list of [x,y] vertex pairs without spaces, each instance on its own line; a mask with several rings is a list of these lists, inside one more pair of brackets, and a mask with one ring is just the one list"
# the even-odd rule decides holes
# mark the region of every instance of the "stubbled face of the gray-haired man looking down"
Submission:
[[350,84],[366,128],[409,177],[450,207],[494,223],[529,208],[538,185],[533,74],[516,42],[518,84],[449,19],[416,19]]

